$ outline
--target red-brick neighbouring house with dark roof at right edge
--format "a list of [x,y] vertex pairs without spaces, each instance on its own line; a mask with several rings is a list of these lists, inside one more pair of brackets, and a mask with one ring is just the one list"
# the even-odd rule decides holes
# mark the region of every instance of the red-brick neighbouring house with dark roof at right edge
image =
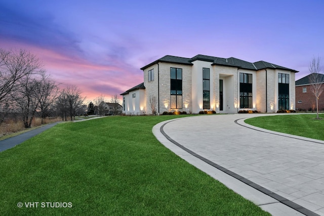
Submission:
[[[320,80],[324,80],[324,74],[318,74]],[[309,75],[298,79],[296,85],[296,110],[313,111],[316,110],[316,98],[311,92],[311,82]],[[323,85],[324,88],[324,85]],[[319,96],[318,110],[324,109],[324,92]]]

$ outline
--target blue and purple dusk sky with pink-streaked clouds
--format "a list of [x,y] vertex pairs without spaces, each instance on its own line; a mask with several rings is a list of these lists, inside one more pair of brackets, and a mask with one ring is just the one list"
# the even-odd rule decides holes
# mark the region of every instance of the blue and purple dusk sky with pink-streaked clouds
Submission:
[[324,63],[324,1],[0,0],[0,48],[35,54],[86,101],[143,82],[165,55],[263,60],[297,80]]

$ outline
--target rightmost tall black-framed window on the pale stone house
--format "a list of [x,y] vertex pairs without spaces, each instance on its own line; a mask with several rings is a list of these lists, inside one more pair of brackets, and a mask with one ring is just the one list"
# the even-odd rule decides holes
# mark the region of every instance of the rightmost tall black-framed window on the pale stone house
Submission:
[[289,74],[278,73],[278,109],[289,110]]

